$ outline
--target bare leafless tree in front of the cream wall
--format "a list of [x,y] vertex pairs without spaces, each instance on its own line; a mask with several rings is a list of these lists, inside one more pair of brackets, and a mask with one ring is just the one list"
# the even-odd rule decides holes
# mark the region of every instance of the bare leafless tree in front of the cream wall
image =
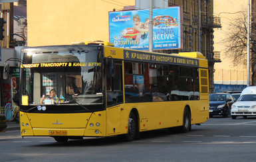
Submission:
[[[256,84],[256,26],[255,10],[251,12],[251,71],[252,83]],[[226,56],[231,59],[234,65],[247,65],[247,11],[239,11],[235,14],[229,24],[226,38],[223,40],[226,48]]]

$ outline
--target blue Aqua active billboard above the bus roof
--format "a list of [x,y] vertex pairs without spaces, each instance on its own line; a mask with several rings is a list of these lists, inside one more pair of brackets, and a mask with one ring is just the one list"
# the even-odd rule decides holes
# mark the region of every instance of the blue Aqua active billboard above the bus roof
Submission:
[[[149,10],[109,13],[109,38],[116,47],[148,50]],[[153,10],[153,49],[182,48],[180,7]]]

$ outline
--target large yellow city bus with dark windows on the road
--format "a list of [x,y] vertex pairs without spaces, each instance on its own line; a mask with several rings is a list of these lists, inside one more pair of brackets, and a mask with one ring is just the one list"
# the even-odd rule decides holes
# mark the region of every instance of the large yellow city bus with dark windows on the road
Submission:
[[207,60],[95,44],[22,50],[21,136],[122,136],[209,118]]

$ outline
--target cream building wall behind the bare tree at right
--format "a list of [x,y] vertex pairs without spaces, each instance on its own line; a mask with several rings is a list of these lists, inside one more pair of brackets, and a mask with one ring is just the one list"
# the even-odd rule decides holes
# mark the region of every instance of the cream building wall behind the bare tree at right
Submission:
[[[255,0],[251,0],[251,17],[253,15],[253,8],[255,7]],[[247,17],[248,0],[242,1],[230,1],[230,0],[215,0],[214,1],[214,14],[218,15],[221,19],[222,28],[214,29],[214,42],[215,50],[220,52],[221,63],[216,63],[214,66],[214,84],[215,92],[227,91],[229,89],[244,89],[247,86],[247,67],[241,60],[237,60],[235,63],[231,61],[231,58],[227,55],[227,44],[225,44],[225,38],[231,28],[231,22],[235,19],[239,19],[241,12],[245,12]],[[251,20],[254,21],[254,20]],[[253,30],[253,22],[251,23],[251,33],[255,33]],[[247,27],[246,27],[247,28]],[[252,35],[253,36],[253,35]],[[247,43],[247,42],[245,42]],[[251,44],[252,46],[252,44]],[[246,50],[246,47],[245,47]],[[247,56],[245,56],[246,58]],[[253,71],[251,71],[252,75]],[[251,77],[250,77],[251,78]],[[255,85],[255,81],[251,80],[251,85]]]

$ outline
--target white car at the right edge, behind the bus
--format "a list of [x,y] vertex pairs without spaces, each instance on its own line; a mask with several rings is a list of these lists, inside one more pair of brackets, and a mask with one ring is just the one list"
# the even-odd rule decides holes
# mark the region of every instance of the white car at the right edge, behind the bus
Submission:
[[241,96],[237,102],[231,106],[231,117],[232,119],[237,116],[256,116],[256,87],[247,87],[241,93]]

